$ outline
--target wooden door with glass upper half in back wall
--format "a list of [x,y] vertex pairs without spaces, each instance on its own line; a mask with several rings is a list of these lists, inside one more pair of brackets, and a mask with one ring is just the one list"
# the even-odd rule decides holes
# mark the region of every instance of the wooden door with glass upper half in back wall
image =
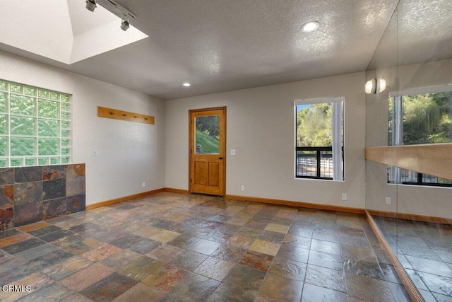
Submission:
[[190,110],[189,192],[225,196],[226,108]]

